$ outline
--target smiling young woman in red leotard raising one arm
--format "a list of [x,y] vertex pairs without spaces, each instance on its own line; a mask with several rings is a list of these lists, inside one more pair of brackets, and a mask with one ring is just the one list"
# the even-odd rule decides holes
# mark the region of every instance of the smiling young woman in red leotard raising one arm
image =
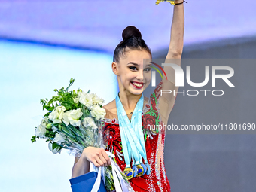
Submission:
[[[175,0],[175,3],[178,5],[175,5],[173,8],[171,40],[166,56],[166,59],[174,59],[172,63],[175,61],[177,65],[181,65],[180,59],[183,50],[184,5],[182,2],[183,0]],[[136,105],[140,102],[143,105],[141,104],[141,121],[139,120],[138,122],[142,122],[140,127],[142,127],[141,132],[143,133],[143,138],[139,138],[139,133],[136,136],[131,136],[133,138],[135,136],[138,139],[143,139],[145,142],[145,144],[142,143],[141,149],[144,146],[146,160],[142,160],[141,157],[142,161],[140,163],[144,168],[142,169],[142,175],[139,175],[140,168],[136,169],[136,172],[133,172],[129,180],[130,184],[134,191],[170,191],[163,161],[165,130],[154,130],[150,127],[156,125],[163,126],[163,124],[167,125],[169,114],[175,103],[175,96],[173,94],[163,94],[160,96],[160,90],[175,90],[177,92],[178,87],[175,87],[175,72],[172,67],[164,67],[163,69],[168,79],[164,78],[165,76],[163,75],[163,80],[154,89],[154,93],[151,94],[150,98],[143,96],[143,90],[151,82],[151,67],[147,66],[150,63],[148,62],[145,65],[143,62],[144,59],[152,59],[151,50],[145,44],[141,33],[136,27],[126,27],[123,30],[123,41],[114,50],[114,61],[112,62],[112,70],[117,75],[120,92],[116,99],[103,106],[106,110],[105,125],[102,129],[102,139],[105,143],[105,149],[94,147],[85,148],[81,157],[75,157],[72,178],[89,172],[90,162],[98,167],[110,165],[110,159],[105,151],[111,151],[115,155],[115,162],[117,162],[122,171],[126,172],[126,169],[128,169],[126,149],[130,145],[133,147],[130,148],[130,153],[133,155],[129,156],[129,159],[132,158],[131,162],[129,161],[131,163],[129,166],[133,167],[133,160],[136,161],[135,157],[137,154],[140,155],[140,151],[139,149],[139,152],[131,150],[134,149],[134,145],[131,142],[132,137],[129,140],[127,134],[132,133],[123,132],[123,126],[120,126],[121,121],[119,122],[119,120],[125,122],[125,117],[122,116],[121,118],[118,114],[120,114],[120,108],[123,108],[123,112],[126,114],[125,116],[132,122],[134,111],[137,110]],[[168,61],[166,60],[166,62]],[[136,114],[139,113],[136,111]],[[124,124],[124,126],[128,126],[127,124]],[[124,148],[123,146],[128,147]],[[136,148],[139,147],[136,146]],[[136,166],[139,167],[139,165]]]

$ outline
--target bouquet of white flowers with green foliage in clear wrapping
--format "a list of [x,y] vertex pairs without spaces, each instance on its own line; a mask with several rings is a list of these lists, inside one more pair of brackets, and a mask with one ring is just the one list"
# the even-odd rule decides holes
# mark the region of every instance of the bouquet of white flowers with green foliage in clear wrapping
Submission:
[[[35,142],[39,138],[46,139],[53,154],[60,153],[64,148],[79,156],[88,146],[102,147],[101,126],[105,117],[105,109],[102,108],[104,100],[95,93],[90,93],[90,90],[87,93],[80,89],[69,91],[74,81],[75,79],[71,78],[66,89],[64,87],[55,89],[57,96],[53,96],[52,99],[40,101],[43,110],[46,109],[48,112],[44,114],[41,124],[35,127],[35,136],[32,136],[31,141]],[[115,188],[112,175],[114,161],[111,160],[111,163],[110,166],[104,167],[105,188],[108,191],[113,191]],[[132,191],[126,175],[121,171],[120,173],[126,187]]]

